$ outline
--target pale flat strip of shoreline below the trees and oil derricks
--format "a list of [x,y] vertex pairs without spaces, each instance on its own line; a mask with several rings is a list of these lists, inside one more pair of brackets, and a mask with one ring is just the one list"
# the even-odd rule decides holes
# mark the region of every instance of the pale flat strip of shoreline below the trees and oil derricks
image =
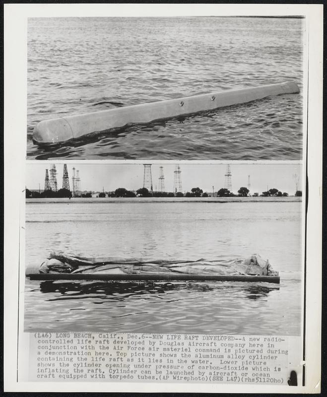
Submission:
[[132,197],[132,198],[50,198],[50,199],[26,199],[26,203],[146,203],[146,202],[301,202],[302,197]]

